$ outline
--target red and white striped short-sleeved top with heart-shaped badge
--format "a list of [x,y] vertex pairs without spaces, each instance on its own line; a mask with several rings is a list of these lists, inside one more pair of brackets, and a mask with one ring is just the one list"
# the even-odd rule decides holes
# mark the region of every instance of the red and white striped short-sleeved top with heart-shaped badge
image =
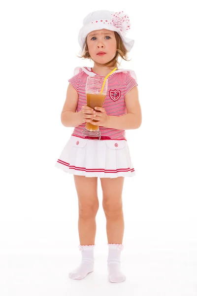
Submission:
[[[79,72],[76,74],[76,72]],[[86,82],[88,76],[102,75],[96,74],[89,67],[75,68],[75,75],[68,81],[73,85],[78,93],[78,104],[76,112],[81,111],[82,106],[87,105],[86,101]],[[134,77],[132,77],[132,76]],[[103,103],[107,115],[121,116],[127,114],[127,108],[125,104],[125,95],[131,88],[137,84],[136,75],[132,70],[116,70],[107,78],[107,94]],[[85,138],[82,131],[85,128],[86,123],[82,123],[74,128],[72,136]],[[106,128],[99,126],[101,136],[108,136],[112,140],[127,140],[125,130]]]

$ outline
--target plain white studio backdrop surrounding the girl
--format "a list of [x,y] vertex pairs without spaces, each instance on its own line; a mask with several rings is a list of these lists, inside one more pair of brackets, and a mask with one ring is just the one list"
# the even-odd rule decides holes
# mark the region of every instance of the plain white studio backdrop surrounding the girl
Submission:
[[[69,4],[69,5],[68,5]],[[99,182],[96,267],[81,259],[73,176],[54,167],[73,128],[60,115],[83,18],[129,14],[135,44],[122,68],[137,76],[142,125],[126,136],[124,283],[107,280]],[[0,4],[0,295],[197,295],[197,42],[194,1],[2,1]],[[101,287],[102,286],[102,287]],[[87,289],[88,288],[88,289]],[[97,289],[95,289],[97,288]]]

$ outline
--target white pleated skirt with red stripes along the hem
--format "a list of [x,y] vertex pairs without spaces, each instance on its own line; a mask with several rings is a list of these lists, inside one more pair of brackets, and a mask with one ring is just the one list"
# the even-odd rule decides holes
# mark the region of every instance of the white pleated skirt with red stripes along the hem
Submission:
[[135,176],[126,140],[91,140],[71,136],[55,167],[85,177]]

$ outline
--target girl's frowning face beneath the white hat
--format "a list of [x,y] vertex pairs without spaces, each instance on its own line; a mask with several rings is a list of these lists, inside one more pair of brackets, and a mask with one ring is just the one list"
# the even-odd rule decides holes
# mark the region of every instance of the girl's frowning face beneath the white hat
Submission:
[[[116,54],[114,31],[107,29],[92,31],[87,36],[87,44],[91,58],[99,64],[109,62]],[[100,51],[105,52],[105,54],[98,55]]]

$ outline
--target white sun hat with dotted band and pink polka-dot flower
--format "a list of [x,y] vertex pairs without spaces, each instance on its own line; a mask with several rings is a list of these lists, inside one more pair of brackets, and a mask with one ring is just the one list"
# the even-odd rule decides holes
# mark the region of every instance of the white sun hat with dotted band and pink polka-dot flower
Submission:
[[79,31],[78,41],[82,52],[85,49],[87,35],[95,30],[107,29],[117,32],[123,40],[128,51],[134,45],[134,40],[125,37],[131,29],[129,16],[123,11],[97,10],[89,13],[83,20],[83,27]]

